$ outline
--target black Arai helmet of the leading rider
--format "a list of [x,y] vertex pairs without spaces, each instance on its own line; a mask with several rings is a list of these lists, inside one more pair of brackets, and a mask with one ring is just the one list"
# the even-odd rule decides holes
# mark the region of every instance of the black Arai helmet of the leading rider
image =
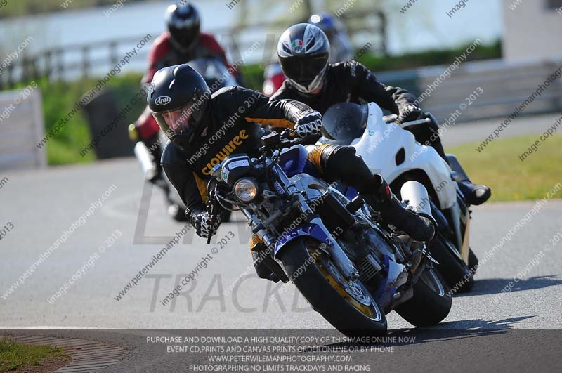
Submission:
[[186,150],[201,133],[211,91],[203,77],[188,65],[164,67],[152,79],[148,107],[166,136]]

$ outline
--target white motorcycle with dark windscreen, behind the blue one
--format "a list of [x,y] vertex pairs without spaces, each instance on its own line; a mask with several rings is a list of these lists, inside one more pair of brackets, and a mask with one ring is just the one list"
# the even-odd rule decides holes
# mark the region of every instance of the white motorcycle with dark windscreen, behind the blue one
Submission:
[[[457,181],[467,177],[454,155],[447,155],[445,162],[436,150],[421,145],[405,130],[426,125],[433,119],[427,115],[426,119],[396,124],[396,116],[384,117],[376,103],[339,103],[324,115],[324,128],[331,138],[322,137],[319,143],[353,146],[399,198],[407,181],[422,183],[429,193],[422,207],[431,209],[439,228],[438,237],[431,242],[431,256],[439,262],[438,269],[452,292],[468,292],[478,259],[469,247],[471,211],[457,186]],[[353,195],[355,190],[348,188],[348,193]]]

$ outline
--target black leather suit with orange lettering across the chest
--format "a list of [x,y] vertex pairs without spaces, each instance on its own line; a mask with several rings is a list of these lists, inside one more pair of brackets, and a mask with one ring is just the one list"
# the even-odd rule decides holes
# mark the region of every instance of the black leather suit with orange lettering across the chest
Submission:
[[[162,155],[166,176],[187,206],[186,215],[204,210],[206,186],[213,166],[230,154],[258,155],[263,126],[293,128],[310,107],[293,100],[269,100],[261,93],[228,87],[211,96],[209,119],[192,148],[181,152],[168,143]],[[308,159],[327,180],[342,179],[358,192],[372,193],[381,188],[382,179],[373,175],[351,147],[334,147],[318,152],[310,147]],[[323,148],[322,148],[323,149]]]

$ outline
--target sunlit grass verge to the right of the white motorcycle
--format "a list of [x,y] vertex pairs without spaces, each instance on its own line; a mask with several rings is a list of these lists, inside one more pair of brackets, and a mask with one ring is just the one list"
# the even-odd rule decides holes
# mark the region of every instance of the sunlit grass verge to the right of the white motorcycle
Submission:
[[[562,136],[554,134],[537,147],[523,162],[518,158],[539,140],[540,134],[497,140],[483,152],[477,143],[447,149],[457,155],[473,183],[492,188],[491,201],[540,199],[562,183]],[[555,195],[562,197],[562,191]]]

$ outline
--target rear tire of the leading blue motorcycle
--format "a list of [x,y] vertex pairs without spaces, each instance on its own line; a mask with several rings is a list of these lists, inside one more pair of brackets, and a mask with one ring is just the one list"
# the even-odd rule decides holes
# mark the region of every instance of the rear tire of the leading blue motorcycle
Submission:
[[438,271],[426,269],[414,285],[414,296],[395,308],[396,313],[416,327],[429,327],[443,321],[451,310],[449,287]]

